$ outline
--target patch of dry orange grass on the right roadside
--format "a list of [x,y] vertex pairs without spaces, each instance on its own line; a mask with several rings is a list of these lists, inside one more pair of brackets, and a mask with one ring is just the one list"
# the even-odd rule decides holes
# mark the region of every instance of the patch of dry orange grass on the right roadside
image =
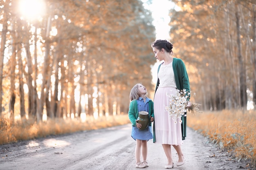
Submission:
[[250,159],[256,166],[256,111],[222,110],[188,113],[187,125],[202,132],[214,144],[235,154],[236,159]]

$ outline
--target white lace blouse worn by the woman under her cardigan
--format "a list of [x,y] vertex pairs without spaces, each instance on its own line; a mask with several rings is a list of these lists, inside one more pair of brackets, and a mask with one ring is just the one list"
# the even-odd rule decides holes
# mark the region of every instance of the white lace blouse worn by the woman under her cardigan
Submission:
[[162,65],[158,72],[159,86],[158,87],[176,87],[175,77],[173,72],[173,62],[167,65]]

